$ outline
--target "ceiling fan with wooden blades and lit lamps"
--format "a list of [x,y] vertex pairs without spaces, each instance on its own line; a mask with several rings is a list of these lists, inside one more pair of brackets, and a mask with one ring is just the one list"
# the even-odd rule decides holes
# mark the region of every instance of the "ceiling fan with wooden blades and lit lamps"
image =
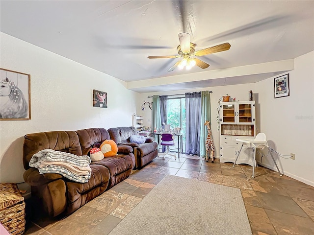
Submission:
[[189,33],[179,33],[179,41],[180,45],[177,47],[179,55],[152,55],[148,56],[149,59],[163,59],[163,58],[179,58],[183,57],[182,60],[178,61],[174,64],[168,72],[174,71],[177,67],[179,69],[183,69],[185,67],[186,70],[191,69],[193,66],[198,66],[202,69],[206,69],[209,67],[209,64],[198,58],[191,58],[191,56],[202,56],[208,55],[224,50],[229,50],[231,45],[229,43],[219,44],[213,47],[208,47],[205,49],[201,49],[195,51],[195,44],[190,42],[190,34]]

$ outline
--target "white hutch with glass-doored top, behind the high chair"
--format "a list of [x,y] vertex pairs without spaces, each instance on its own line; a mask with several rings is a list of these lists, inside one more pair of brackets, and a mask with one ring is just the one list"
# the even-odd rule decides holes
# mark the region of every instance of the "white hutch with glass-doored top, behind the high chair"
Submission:
[[[255,138],[255,101],[220,102],[220,162],[235,162],[242,143],[237,138]],[[253,166],[252,149],[243,146],[236,164]]]

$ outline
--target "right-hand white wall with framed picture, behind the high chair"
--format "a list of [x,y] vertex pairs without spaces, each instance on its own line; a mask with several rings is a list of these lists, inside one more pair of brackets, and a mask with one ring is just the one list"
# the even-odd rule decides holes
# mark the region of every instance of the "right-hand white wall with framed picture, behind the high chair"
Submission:
[[[260,112],[260,132],[266,134],[268,144],[277,152],[285,155],[295,154],[295,160],[278,158],[278,155],[274,154],[279,168],[285,175],[312,186],[314,186],[313,65],[314,51],[294,60],[294,70],[289,72],[290,95],[287,97],[274,98],[275,77],[256,83],[254,88]],[[264,152],[267,154],[267,151]],[[263,165],[275,169],[270,158],[264,157],[262,160]]]

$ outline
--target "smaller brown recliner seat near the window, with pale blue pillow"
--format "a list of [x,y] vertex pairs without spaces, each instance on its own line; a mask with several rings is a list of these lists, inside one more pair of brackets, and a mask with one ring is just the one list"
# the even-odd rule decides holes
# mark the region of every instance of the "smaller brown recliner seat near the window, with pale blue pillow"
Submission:
[[154,138],[146,137],[145,143],[136,144],[130,141],[132,135],[136,135],[136,129],[130,127],[117,127],[108,129],[110,139],[118,145],[129,145],[133,148],[136,168],[142,168],[158,156],[158,143]]

